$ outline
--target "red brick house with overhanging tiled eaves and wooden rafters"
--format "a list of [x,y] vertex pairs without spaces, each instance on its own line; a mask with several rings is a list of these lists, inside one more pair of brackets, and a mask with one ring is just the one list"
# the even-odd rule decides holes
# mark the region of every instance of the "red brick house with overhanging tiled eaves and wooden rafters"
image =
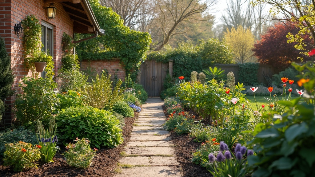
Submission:
[[[47,7],[54,3],[57,8],[53,19],[48,18]],[[44,49],[53,56],[54,71],[61,66],[61,39],[63,33],[73,36],[74,33],[93,33],[93,37],[101,34],[100,26],[95,19],[88,0],[0,0],[0,36],[4,38],[7,52],[11,57],[11,68],[15,79],[13,89],[19,93],[21,78],[31,76],[24,61],[23,31],[17,36],[14,26],[19,24],[27,15],[35,15],[42,26],[42,43]],[[22,26],[23,27],[23,26]],[[92,37],[91,37],[92,38]],[[87,39],[83,39],[87,40]],[[76,42],[81,42],[76,41]],[[5,104],[9,106],[3,118],[4,124],[14,120],[15,96],[7,98]]]

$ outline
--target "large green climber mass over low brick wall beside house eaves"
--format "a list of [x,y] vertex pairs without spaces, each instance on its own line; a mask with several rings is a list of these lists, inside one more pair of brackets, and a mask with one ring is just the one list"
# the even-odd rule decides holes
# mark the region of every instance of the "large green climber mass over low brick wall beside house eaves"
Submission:
[[[141,62],[146,60],[146,52],[151,43],[150,34],[130,30],[123,25],[123,20],[111,8],[100,5],[98,0],[89,1],[101,29],[106,35],[83,41],[76,47],[80,60],[104,60],[120,58],[126,70],[136,80],[137,71]],[[89,34],[76,34],[76,40],[90,36]]]

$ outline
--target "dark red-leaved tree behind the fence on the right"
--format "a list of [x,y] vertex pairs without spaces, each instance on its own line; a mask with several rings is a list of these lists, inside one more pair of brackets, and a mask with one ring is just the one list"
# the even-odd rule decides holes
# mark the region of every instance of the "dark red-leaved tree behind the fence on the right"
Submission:
[[[258,62],[269,64],[276,69],[284,70],[292,62],[301,62],[298,57],[310,60],[310,57],[300,54],[300,51],[294,48],[295,43],[288,43],[288,32],[297,34],[297,29],[292,22],[277,23],[270,27],[265,35],[261,36],[261,40],[254,45],[254,55],[257,56]],[[304,36],[305,42],[312,43],[309,36]],[[306,46],[311,50],[311,46]]]

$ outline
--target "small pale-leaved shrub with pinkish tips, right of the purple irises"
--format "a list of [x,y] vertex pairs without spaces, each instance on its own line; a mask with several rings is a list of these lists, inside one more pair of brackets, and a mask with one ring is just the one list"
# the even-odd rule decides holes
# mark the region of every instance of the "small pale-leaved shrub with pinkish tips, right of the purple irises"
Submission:
[[89,145],[89,140],[86,138],[75,139],[76,143],[66,145],[67,151],[64,153],[66,163],[76,168],[88,168],[92,165],[92,160],[97,149],[92,150]]

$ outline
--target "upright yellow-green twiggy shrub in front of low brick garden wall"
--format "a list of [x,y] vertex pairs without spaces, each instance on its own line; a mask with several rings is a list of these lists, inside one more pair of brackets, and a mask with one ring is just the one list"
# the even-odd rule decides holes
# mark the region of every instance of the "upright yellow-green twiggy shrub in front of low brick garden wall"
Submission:
[[92,80],[91,85],[86,88],[84,95],[86,98],[84,101],[89,106],[93,106],[98,109],[112,110],[114,104],[123,100],[123,94],[120,94],[121,80],[116,83],[115,88],[112,90],[112,81],[110,81],[110,75],[105,76],[98,74],[95,80]]

